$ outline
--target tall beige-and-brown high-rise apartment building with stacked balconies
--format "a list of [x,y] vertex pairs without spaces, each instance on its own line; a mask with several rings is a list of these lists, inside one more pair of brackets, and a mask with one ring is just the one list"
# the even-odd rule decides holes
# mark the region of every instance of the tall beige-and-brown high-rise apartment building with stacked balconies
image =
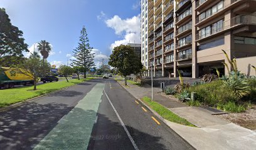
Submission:
[[256,56],[255,0],[146,3],[147,68],[154,76],[176,77],[177,69],[193,78],[216,73],[216,68],[227,74],[221,49],[232,59]]

